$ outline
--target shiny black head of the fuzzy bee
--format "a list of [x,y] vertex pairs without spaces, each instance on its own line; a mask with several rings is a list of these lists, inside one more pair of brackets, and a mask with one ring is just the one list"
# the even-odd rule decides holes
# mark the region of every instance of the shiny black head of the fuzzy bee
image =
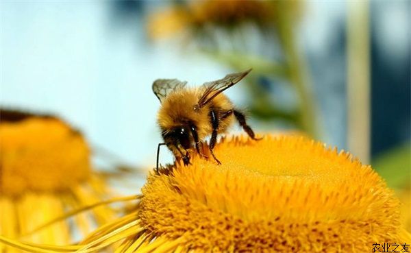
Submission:
[[[174,146],[177,149],[190,149],[192,147],[190,132],[188,127],[181,125],[173,128],[171,131],[163,131],[162,137],[168,147]],[[179,150],[181,152],[181,150]]]

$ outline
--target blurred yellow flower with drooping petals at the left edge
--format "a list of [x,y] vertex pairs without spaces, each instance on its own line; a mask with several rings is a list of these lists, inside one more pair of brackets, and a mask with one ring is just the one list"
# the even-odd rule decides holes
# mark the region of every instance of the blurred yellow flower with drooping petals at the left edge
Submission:
[[[0,110],[0,234],[33,243],[73,243],[114,217],[110,206],[36,228],[101,202],[110,191],[90,167],[82,134],[56,117]],[[0,252],[14,252],[0,243]],[[16,252],[21,252],[16,250]]]

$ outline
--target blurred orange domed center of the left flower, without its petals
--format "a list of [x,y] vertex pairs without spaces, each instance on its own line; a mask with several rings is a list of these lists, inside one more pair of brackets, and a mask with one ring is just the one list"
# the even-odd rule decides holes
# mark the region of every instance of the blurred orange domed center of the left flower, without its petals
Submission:
[[0,192],[60,191],[90,176],[90,150],[79,132],[53,117],[0,123]]

